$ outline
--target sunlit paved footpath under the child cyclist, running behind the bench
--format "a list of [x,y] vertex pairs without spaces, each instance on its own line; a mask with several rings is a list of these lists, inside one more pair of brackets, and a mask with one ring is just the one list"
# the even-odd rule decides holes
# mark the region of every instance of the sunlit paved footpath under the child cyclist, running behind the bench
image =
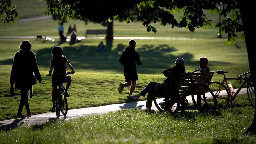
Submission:
[[[234,89],[237,91],[237,89]],[[247,93],[246,88],[243,88],[239,94]],[[189,102],[192,102],[191,96],[187,97]],[[158,102],[162,102],[162,99],[158,99]],[[69,120],[73,118],[78,118],[81,116],[87,116],[92,114],[103,114],[111,111],[117,111],[125,108],[138,108],[138,109],[146,109],[146,101],[137,101],[137,102],[130,102],[130,103],[123,103],[123,104],[112,104],[106,106],[99,106],[99,107],[88,107],[88,108],[80,108],[80,109],[71,109],[68,110],[66,116],[61,115],[60,120]],[[155,104],[152,104],[152,110],[157,110]],[[38,115],[32,115],[30,118],[25,119],[10,119],[0,121],[0,129],[11,129],[15,128],[19,125],[41,125],[56,119],[56,113],[43,113]]]

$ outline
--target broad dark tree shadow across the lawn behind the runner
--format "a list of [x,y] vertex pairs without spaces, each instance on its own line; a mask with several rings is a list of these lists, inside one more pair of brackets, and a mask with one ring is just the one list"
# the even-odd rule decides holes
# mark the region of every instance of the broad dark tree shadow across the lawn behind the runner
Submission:
[[[53,45],[52,47],[54,47]],[[110,42],[109,46],[112,46]],[[34,51],[37,58],[37,63],[42,67],[50,66],[52,47],[46,47]],[[107,48],[105,51],[98,51],[97,46],[92,45],[70,45],[64,46],[63,54],[75,69],[90,69],[90,70],[110,70],[118,73],[123,73],[123,66],[119,63],[121,53],[127,46],[122,43],[117,47]],[[198,61],[193,61],[191,53],[183,53],[179,56],[173,54],[177,51],[175,47],[164,45],[142,45],[135,49],[143,62],[143,65],[137,66],[138,73],[159,73],[160,71],[172,67],[177,57],[185,59],[186,65],[197,65]],[[13,59],[0,61],[0,65],[12,65]],[[211,65],[226,64],[222,62],[212,62]]]

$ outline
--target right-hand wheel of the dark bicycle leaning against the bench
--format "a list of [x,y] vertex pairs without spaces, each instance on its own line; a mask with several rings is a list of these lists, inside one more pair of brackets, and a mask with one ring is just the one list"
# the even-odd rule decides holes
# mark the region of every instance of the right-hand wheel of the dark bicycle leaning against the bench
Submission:
[[217,100],[207,85],[197,84],[191,92],[193,103],[200,112],[211,113],[216,110]]

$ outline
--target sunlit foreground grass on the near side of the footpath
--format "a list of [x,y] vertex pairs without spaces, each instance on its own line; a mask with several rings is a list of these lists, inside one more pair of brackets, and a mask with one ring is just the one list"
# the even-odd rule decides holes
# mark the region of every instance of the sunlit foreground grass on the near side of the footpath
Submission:
[[254,135],[243,135],[254,110],[239,95],[233,109],[203,114],[189,109],[170,114],[137,108],[43,125],[19,126],[0,132],[0,143],[142,143],[142,144],[254,144]]

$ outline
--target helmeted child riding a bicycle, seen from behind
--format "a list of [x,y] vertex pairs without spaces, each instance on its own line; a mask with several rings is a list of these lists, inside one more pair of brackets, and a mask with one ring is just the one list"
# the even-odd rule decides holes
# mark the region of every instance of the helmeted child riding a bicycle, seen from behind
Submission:
[[[67,83],[64,96],[69,97],[68,89],[71,85],[71,76],[66,75],[66,66],[71,69],[70,74],[75,73],[73,66],[68,62],[67,58],[62,55],[62,48],[55,46],[52,48],[52,58],[49,74],[47,76],[52,77],[52,108],[51,112],[55,112],[55,95],[59,82]],[[53,75],[52,75],[53,72]]]

